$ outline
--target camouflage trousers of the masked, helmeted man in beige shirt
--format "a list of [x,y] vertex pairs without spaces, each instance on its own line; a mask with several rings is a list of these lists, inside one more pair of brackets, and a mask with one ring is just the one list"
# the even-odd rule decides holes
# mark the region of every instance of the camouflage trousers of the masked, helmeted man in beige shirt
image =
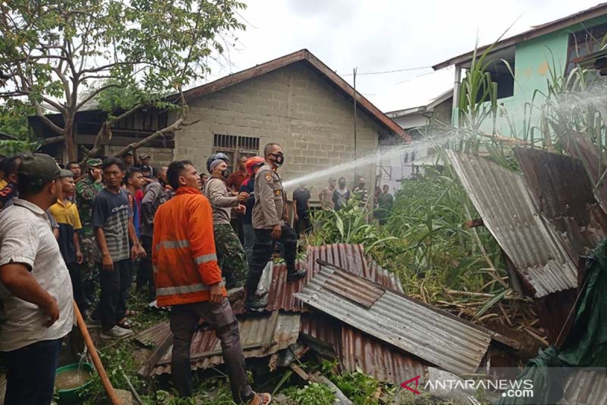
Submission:
[[[248,265],[246,263],[245,251],[234,232],[232,225],[219,223],[213,225],[215,236],[215,251],[217,252],[217,264],[226,277],[226,285],[243,284],[246,279]],[[228,280],[232,278],[232,280]]]

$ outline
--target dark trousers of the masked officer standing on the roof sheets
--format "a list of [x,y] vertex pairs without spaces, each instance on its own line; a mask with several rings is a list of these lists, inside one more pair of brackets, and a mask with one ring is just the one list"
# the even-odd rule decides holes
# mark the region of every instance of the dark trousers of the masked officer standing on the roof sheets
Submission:
[[[249,263],[249,276],[246,279],[246,297],[252,299],[257,290],[257,284],[262,276],[263,268],[272,258],[274,250],[274,239],[270,236],[272,230],[256,229],[255,246],[253,247],[253,257]],[[295,273],[295,254],[297,250],[297,236],[291,229],[291,226],[283,225],[279,242],[285,249],[285,262],[287,264],[287,273]]]

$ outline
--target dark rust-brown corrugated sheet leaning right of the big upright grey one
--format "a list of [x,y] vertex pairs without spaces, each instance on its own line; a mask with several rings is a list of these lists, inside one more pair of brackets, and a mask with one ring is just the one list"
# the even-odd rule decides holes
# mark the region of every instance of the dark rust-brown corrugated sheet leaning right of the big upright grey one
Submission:
[[582,162],[539,149],[515,148],[514,153],[540,214],[577,263],[607,237],[607,214],[594,198]]

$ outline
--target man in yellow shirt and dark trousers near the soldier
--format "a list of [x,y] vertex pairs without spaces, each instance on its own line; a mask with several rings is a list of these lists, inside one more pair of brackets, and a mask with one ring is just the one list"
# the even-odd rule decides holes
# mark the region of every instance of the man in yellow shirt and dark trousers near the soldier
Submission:
[[83,262],[82,252],[80,250],[80,239],[78,232],[82,229],[80,223],[80,215],[76,204],[69,200],[76,191],[74,184],[74,174],[71,170],[63,169],[59,174],[59,198],[50,206],[49,211],[55,217],[59,225],[59,250],[61,256],[66,262],[67,270],[70,272],[72,279],[72,291],[74,300],[84,313],[87,308],[86,299],[84,299],[84,289],[82,286],[82,276],[80,265]]

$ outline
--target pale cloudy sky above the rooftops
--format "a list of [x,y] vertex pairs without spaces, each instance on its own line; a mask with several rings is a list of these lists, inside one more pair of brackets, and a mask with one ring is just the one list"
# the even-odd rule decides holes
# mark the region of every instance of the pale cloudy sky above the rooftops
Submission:
[[[429,67],[531,26],[588,9],[599,0],[242,0],[247,25],[231,41],[231,64],[209,80],[306,48],[382,111],[424,104],[452,86],[452,70]],[[413,69],[381,75],[367,72]]]

